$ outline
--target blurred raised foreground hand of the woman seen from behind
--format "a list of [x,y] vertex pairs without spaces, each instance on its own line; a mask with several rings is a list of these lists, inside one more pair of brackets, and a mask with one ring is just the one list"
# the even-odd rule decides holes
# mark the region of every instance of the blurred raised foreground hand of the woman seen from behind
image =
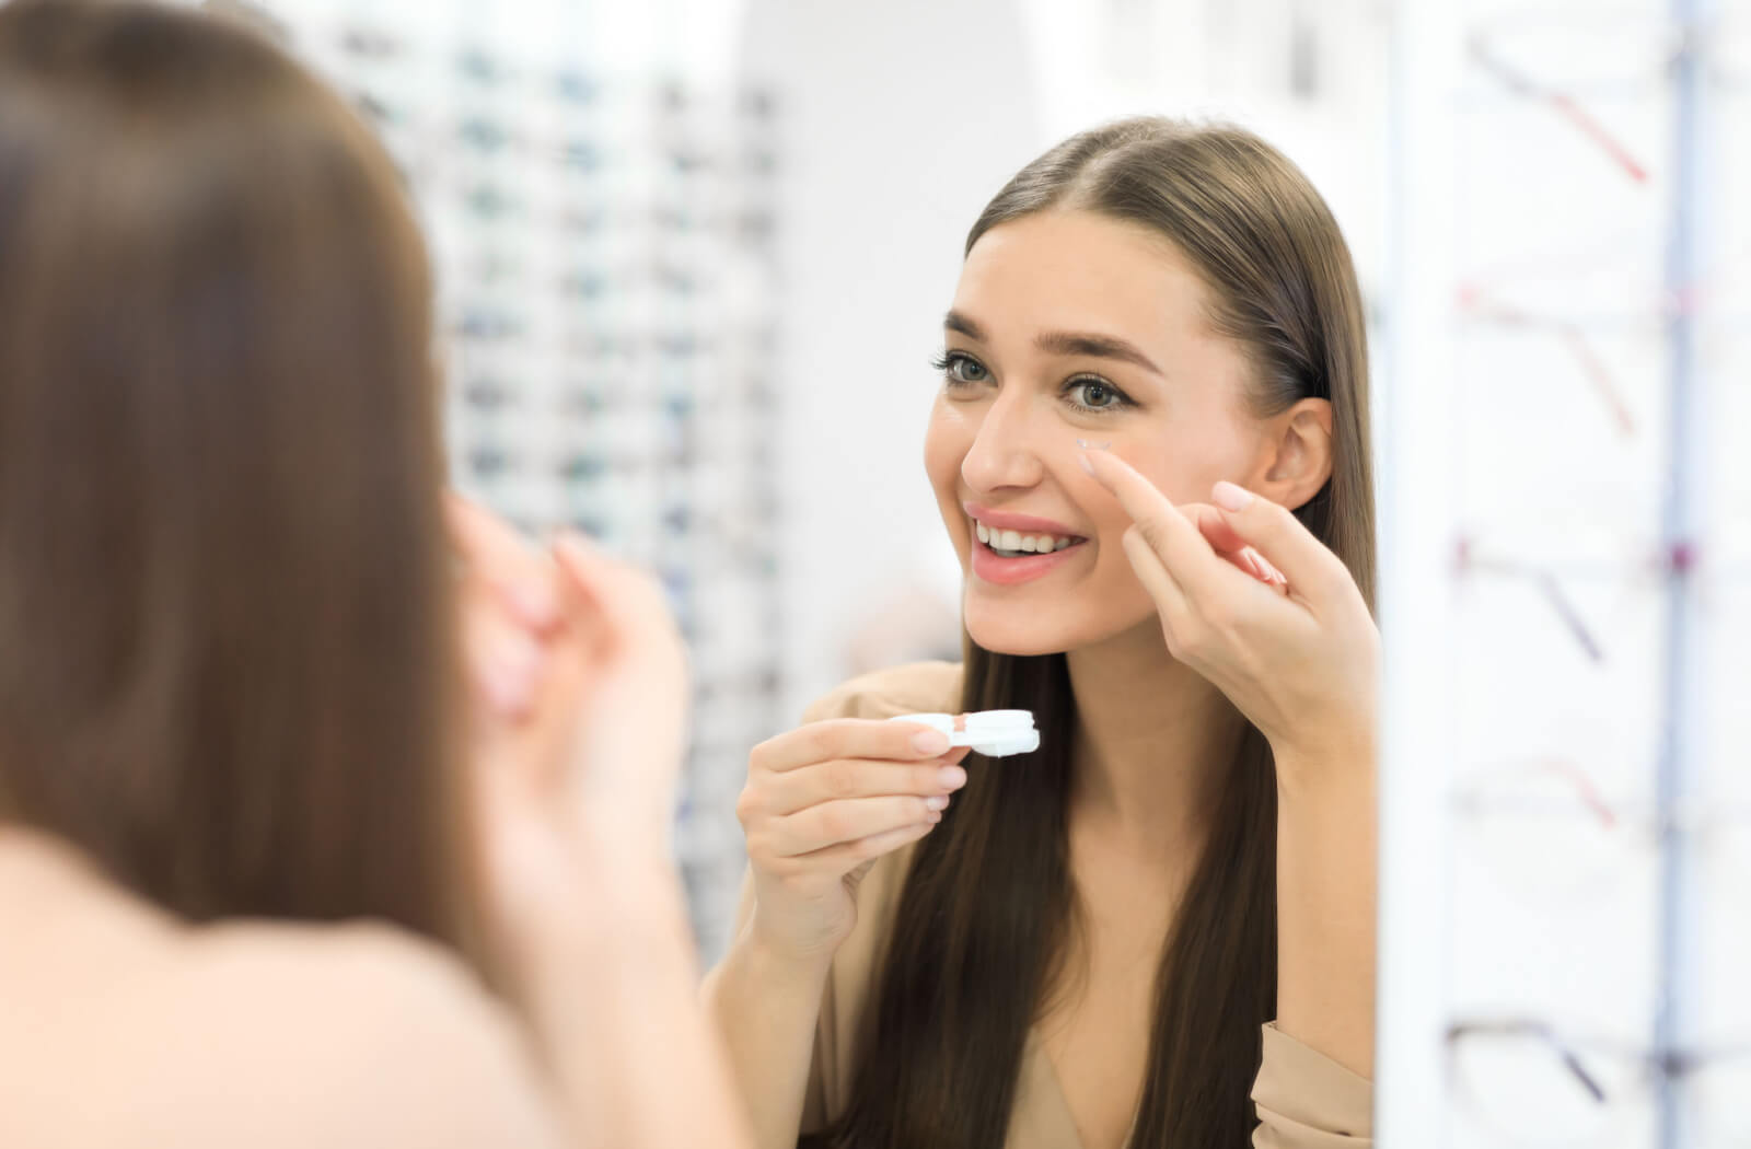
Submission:
[[448,503],[469,746],[494,909],[510,941],[583,911],[588,867],[669,865],[686,664],[662,590],[562,538],[552,552]]

